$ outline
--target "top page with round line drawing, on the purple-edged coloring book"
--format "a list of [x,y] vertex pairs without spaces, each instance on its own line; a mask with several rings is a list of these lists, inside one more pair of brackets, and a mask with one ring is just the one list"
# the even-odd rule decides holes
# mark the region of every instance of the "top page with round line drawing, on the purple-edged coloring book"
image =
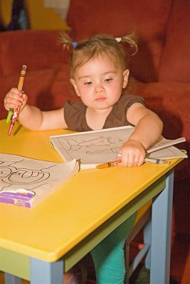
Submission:
[[43,192],[75,171],[74,163],[53,163],[0,153],[0,192],[31,190]]

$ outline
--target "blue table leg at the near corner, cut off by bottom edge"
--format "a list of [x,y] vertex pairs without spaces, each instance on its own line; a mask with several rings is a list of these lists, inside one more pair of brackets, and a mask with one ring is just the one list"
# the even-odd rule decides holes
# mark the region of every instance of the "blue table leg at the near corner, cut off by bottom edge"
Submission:
[[31,284],[63,284],[63,260],[49,263],[31,258]]

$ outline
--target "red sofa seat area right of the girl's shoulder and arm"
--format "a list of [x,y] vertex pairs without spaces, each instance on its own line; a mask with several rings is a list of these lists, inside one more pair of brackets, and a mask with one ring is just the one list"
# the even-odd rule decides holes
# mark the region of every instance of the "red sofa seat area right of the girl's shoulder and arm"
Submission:
[[[176,145],[190,153],[190,114],[187,104],[190,84],[182,82],[133,82],[130,92],[144,97],[147,107],[152,109],[164,122],[163,136],[167,139],[185,137],[186,142]],[[189,179],[190,160],[184,159],[176,166],[178,180]]]

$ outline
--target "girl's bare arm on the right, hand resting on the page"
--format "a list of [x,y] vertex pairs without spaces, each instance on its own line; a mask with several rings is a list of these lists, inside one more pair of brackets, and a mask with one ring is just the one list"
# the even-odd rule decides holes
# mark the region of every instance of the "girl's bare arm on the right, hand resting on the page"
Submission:
[[134,103],[127,111],[127,121],[136,127],[128,141],[120,148],[122,164],[142,165],[147,148],[162,134],[162,120],[143,104]]

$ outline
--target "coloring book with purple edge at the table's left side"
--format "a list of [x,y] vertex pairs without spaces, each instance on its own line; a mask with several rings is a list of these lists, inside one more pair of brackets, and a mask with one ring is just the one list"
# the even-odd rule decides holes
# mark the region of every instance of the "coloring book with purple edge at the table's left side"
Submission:
[[53,163],[0,153],[0,202],[34,207],[78,170],[76,160]]

